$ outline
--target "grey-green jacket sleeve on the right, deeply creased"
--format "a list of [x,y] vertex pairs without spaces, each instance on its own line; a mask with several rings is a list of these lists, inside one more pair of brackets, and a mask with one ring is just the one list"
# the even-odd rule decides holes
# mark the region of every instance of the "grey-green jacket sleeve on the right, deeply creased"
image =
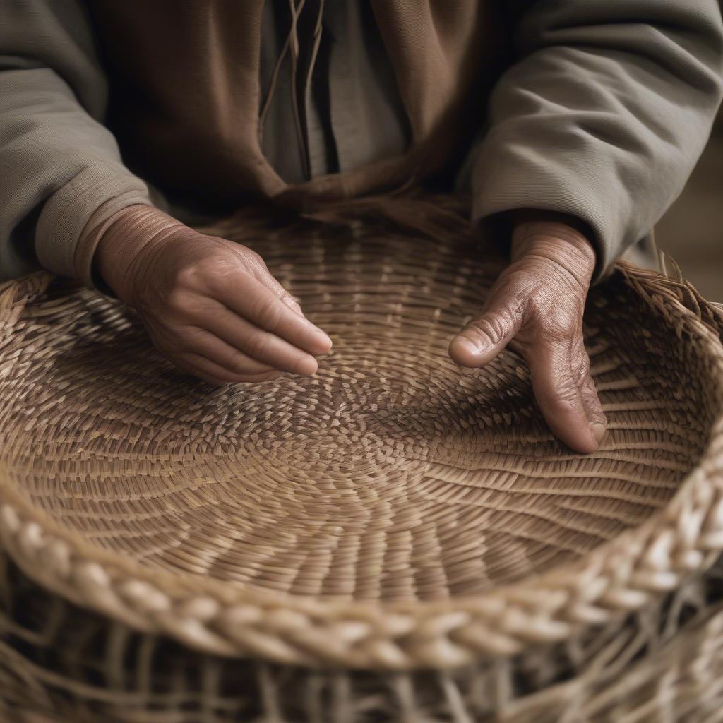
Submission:
[[474,220],[531,208],[593,232],[598,275],[683,189],[722,93],[716,0],[510,0],[515,59],[469,168]]

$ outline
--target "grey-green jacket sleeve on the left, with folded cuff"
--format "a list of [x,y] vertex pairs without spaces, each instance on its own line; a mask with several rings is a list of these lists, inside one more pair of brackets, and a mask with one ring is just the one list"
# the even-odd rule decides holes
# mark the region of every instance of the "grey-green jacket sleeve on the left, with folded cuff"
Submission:
[[[100,122],[106,79],[75,0],[0,0],[0,279],[38,262],[74,275],[85,224],[134,203],[146,184]],[[33,249],[34,240],[34,249]]]

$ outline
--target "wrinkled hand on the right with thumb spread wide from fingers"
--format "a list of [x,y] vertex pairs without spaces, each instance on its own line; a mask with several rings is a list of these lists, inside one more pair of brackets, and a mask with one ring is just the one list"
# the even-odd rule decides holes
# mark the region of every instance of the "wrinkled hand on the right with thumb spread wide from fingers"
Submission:
[[527,362],[552,432],[577,452],[594,452],[607,425],[583,344],[594,249],[565,223],[525,221],[515,226],[511,254],[479,317],[450,343],[450,356],[483,367],[509,345]]

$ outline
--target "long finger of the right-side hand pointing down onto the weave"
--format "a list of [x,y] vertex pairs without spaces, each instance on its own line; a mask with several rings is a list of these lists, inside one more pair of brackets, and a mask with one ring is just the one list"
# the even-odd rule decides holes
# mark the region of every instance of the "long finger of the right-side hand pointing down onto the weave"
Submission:
[[589,372],[586,364],[580,366],[581,359],[573,352],[573,341],[542,339],[523,354],[537,404],[552,433],[570,449],[591,453],[599,442],[586,409],[586,403],[594,405],[589,392],[583,402],[582,387]]

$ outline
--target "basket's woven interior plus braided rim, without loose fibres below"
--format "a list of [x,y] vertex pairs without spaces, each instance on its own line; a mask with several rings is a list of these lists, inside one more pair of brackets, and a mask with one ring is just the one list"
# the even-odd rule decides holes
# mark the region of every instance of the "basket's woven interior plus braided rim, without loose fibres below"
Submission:
[[645,604],[723,546],[723,355],[675,283],[593,294],[609,435],[576,455],[513,352],[448,358],[500,270],[461,226],[235,223],[333,337],[311,380],[213,390],[114,301],[5,288],[0,530],[46,586],[223,654],[450,665]]

